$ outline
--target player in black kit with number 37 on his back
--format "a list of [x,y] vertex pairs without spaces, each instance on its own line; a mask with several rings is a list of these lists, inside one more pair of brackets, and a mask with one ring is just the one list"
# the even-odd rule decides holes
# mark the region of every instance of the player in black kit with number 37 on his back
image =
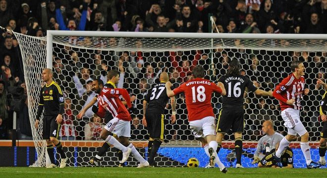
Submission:
[[[148,91],[144,101],[143,101],[143,119],[142,123],[148,129],[149,134],[149,159],[148,162],[151,167],[155,165],[155,156],[157,151],[163,142],[164,134],[164,108],[169,100],[167,96],[165,83],[168,81],[169,77],[167,72],[162,72],[160,74],[160,83],[154,84],[153,87]],[[170,98],[172,115],[171,123],[176,120],[175,112],[175,97]]]

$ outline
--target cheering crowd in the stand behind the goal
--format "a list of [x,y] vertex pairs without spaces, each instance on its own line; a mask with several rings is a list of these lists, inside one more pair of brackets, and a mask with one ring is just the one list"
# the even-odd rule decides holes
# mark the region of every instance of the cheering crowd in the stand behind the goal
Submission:
[[[217,28],[211,26],[210,16]],[[0,26],[37,37],[46,35],[46,30],[327,34],[326,22],[327,0],[0,0]],[[27,97],[20,47],[10,33],[0,34],[0,139],[11,135],[13,112],[19,113],[19,139],[32,139],[28,114],[32,98]],[[280,78],[291,72],[284,68],[290,61],[305,61],[306,78],[310,78],[307,83],[313,94],[304,107],[304,123],[313,131],[309,132],[315,136],[313,139],[318,139],[319,123],[312,119],[316,113],[309,107],[318,106],[317,96],[321,94],[313,79],[327,78],[326,52],[216,49],[212,55],[209,51],[105,52],[54,45],[54,79],[65,91],[60,136],[66,140],[99,139],[104,121],[91,110],[81,120],[76,115],[95,96],[91,81],[106,78],[110,69],[117,69],[124,80],[121,87],[136,95],[134,105],[140,113],[133,116],[131,139],[144,140],[146,131],[140,123],[142,100],[160,72],[168,71],[177,87],[190,78],[195,65],[201,64],[207,78],[215,82],[234,58],[240,60],[242,73],[265,90],[273,89]],[[211,66],[212,63],[215,65]],[[214,98],[213,103],[218,113],[221,101]],[[166,125],[169,130],[166,139],[194,139],[187,128],[183,96],[177,99],[177,104],[179,119],[174,125]],[[279,118],[276,100],[254,97],[246,99],[244,107],[247,108],[244,140],[259,140],[260,122]],[[282,125],[275,125],[283,131]]]

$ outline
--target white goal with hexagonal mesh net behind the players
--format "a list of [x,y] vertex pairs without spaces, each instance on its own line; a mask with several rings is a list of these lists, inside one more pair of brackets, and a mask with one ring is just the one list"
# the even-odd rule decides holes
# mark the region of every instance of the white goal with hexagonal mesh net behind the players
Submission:
[[[137,113],[132,115],[131,140],[144,157],[147,153],[147,131],[141,123],[142,100],[151,84],[158,82],[158,75],[167,71],[175,87],[191,77],[195,65],[204,66],[205,78],[217,82],[226,73],[228,62],[239,60],[241,73],[247,75],[258,88],[272,90],[284,77],[291,73],[289,64],[293,60],[304,61],[306,87],[311,92],[303,99],[301,119],[309,131],[310,141],[317,142],[321,122],[319,102],[324,90],[316,85],[316,78],[326,78],[327,37],[326,35],[268,35],[268,34],[199,34],[199,33],[136,33],[136,32],[66,32],[48,31],[47,38],[37,38],[14,33],[18,40],[25,72],[29,98],[29,115],[33,139],[37,148],[38,166],[45,166],[46,145],[42,140],[41,127],[35,129],[34,122],[39,100],[42,69],[53,68],[54,80],[64,91],[65,115],[60,137],[69,166],[88,166],[88,161],[104,143],[100,132],[104,121],[96,119],[91,110],[83,119],[76,116],[94,96],[90,80],[106,78],[107,71],[120,72],[118,87],[135,95],[133,102]],[[48,48],[48,51],[47,51]],[[48,53],[48,55],[47,55]],[[280,117],[278,101],[272,98],[246,93],[244,100],[245,123],[243,136],[242,165],[251,165],[256,144],[263,136],[261,125],[271,119],[276,131],[286,134]],[[165,112],[165,141],[156,157],[158,166],[184,166],[191,157],[200,160],[200,166],[208,163],[201,144],[194,139],[187,120],[184,96],[176,97],[176,123],[171,124],[170,105]],[[212,99],[214,113],[218,118],[221,97]],[[224,138],[219,157],[226,166],[235,164],[232,144],[233,135]],[[319,158],[317,144],[311,143],[314,160]],[[294,148],[295,167],[304,167],[305,161],[298,143]],[[58,159],[57,159],[58,160]],[[112,148],[104,155],[101,165],[116,166],[116,151]],[[133,158],[129,166],[136,166]]]

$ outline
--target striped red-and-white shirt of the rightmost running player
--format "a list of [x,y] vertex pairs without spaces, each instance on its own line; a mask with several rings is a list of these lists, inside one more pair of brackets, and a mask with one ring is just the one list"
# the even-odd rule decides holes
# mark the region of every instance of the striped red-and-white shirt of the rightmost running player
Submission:
[[[295,110],[300,110],[302,108],[301,99],[303,97],[304,84],[305,81],[303,76],[296,79],[292,73],[284,78],[279,85],[277,85],[272,95],[279,100],[281,111],[286,108],[293,108]],[[295,103],[293,105],[286,104],[287,100],[290,99],[295,99]]]

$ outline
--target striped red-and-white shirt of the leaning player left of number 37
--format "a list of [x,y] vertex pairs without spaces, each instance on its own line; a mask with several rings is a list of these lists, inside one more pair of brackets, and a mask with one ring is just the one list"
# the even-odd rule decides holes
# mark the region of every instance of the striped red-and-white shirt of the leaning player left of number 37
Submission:
[[132,107],[127,90],[121,88],[107,88],[104,86],[98,96],[99,111],[97,115],[100,118],[104,118],[106,111],[109,111],[113,118],[118,118],[125,121],[132,120],[126,107],[119,99],[120,95],[122,95],[127,102],[127,107]]

